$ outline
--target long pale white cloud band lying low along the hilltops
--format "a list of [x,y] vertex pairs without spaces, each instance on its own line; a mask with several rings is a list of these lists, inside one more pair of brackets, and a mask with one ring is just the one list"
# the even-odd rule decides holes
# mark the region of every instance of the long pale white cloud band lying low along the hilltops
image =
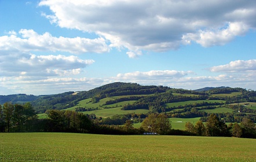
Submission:
[[[76,71],[76,70],[75,70]],[[194,76],[191,71],[148,71],[119,73],[109,78],[36,78],[28,76],[0,77],[2,93],[56,94],[65,91],[91,90],[113,82],[132,82],[142,85],[163,85],[182,89],[200,89],[202,87],[242,87],[255,89],[256,76],[251,72],[220,74],[218,76]]]

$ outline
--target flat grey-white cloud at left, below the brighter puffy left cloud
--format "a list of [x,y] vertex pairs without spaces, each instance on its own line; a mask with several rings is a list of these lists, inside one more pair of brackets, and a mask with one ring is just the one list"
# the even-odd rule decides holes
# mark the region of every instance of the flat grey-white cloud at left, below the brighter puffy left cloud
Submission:
[[2,56],[0,73],[2,76],[19,76],[20,80],[40,79],[48,76],[78,75],[82,68],[93,64],[94,60],[82,60],[77,56],[48,55],[36,56],[35,54],[15,54]]

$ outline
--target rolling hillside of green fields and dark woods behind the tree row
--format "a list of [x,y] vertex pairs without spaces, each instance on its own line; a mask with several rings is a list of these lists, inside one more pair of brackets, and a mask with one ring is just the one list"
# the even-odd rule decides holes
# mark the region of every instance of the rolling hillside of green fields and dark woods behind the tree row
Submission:
[[[256,92],[241,88],[217,87],[207,91],[193,91],[117,82],[89,91],[69,91],[40,96],[19,94],[10,95],[10,97],[12,101],[19,102],[22,97],[35,97],[35,100],[30,101],[31,104],[24,105],[24,110],[33,108],[39,117],[39,121],[36,122],[52,122],[52,120],[47,120],[51,118],[63,123],[62,121],[69,119],[64,123],[65,126],[71,126],[68,124],[71,121],[75,122],[86,117],[92,120],[93,127],[98,128],[101,133],[105,133],[105,128],[112,130],[113,125],[119,130],[121,128],[119,126],[127,124],[127,121],[130,121],[134,128],[138,128],[134,131],[140,131],[143,121],[152,115],[164,115],[171,122],[171,127],[177,130],[185,130],[186,123],[195,124],[199,120],[206,122],[211,115],[217,116],[218,120],[227,125],[228,123],[241,123],[244,119],[250,119],[256,123]],[[8,106],[9,103],[6,104]],[[12,104],[15,103],[12,102]],[[72,114],[78,119],[71,120]],[[42,127],[49,126],[49,124],[41,124]],[[63,128],[64,126],[59,130],[52,130],[51,127],[45,127],[45,130],[61,131]],[[74,131],[69,127],[64,130]],[[173,132],[173,134],[176,133],[186,132]]]

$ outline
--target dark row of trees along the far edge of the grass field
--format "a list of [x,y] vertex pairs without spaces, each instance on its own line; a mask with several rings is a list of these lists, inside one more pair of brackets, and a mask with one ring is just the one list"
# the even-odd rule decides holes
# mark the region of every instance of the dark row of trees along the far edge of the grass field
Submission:
[[[194,110],[195,111],[195,110]],[[142,122],[140,128],[134,128],[135,118]],[[102,118],[86,115],[76,111],[47,111],[46,119],[38,119],[34,108],[27,102],[23,105],[6,102],[0,105],[1,132],[79,132],[93,134],[143,134],[151,132],[162,135],[205,135],[224,137],[256,138],[255,124],[243,117],[241,124],[225,124],[221,116],[211,114],[205,124],[202,120],[195,126],[186,123],[185,131],[171,129],[167,113],[150,113],[148,115],[115,115]],[[132,120],[134,119],[134,120]]]

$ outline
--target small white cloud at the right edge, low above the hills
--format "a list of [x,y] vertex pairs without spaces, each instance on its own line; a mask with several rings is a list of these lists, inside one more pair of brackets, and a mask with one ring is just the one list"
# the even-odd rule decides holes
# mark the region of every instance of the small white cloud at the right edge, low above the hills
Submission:
[[256,60],[236,60],[226,65],[219,65],[210,68],[211,72],[244,72],[256,71]]

